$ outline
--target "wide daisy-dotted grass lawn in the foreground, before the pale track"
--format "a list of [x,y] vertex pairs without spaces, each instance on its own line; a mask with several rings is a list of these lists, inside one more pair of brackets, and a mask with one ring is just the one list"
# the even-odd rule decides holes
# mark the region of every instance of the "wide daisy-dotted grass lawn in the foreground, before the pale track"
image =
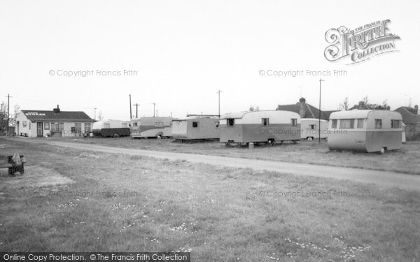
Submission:
[[[154,143],[194,148],[139,141],[150,149]],[[315,146],[298,145],[304,147]],[[0,252],[190,251],[192,261],[420,260],[417,192],[1,139],[0,148],[0,157],[22,152],[27,158],[25,175],[0,170]]]

